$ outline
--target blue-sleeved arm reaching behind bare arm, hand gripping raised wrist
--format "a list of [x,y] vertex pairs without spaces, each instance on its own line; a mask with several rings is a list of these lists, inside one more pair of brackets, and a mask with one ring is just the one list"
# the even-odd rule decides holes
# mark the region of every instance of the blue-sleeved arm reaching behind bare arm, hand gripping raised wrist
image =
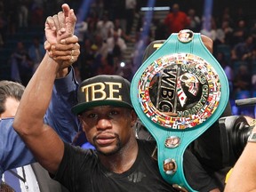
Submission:
[[[69,12],[68,5],[63,5],[66,12]],[[64,15],[64,14],[63,14]],[[61,16],[61,15],[60,15]],[[65,18],[65,17],[62,17]],[[76,22],[76,17],[73,22]],[[69,22],[69,28],[75,25]],[[52,31],[57,31],[57,28]],[[54,42],[54,49],[52,44],[46,41],[44,47],[49,51],[49,55],[58,60],[62,65],[62,68],[57,73],[58,78],[55,79],[54,89],[52,93],[51,105],[48,108],[44,121],[51,126],[60,134],[62,140],[71,142],[76,135],[74,127],[77,128],[76,116],[71,114],[70,108],[73,106],[73,99],[76,98],[76,80],[74,78],[74,71],[70,65],[77,60],[80,53],[80,46],[77,44],[77,37],[69,34],[73,29],[64,30],[60,34],[65,35],[67,39],[62,39],[62,44],[56,44],[58,41]],[[46,32],[46,31],[45,31]],[[49,30],[48,30],[49,32]],[[52,33],[52,39],[57,38],[54,33]],[[56,34],[56,33],[55,33]],[[71,36],[71,37],[70,37]],[[47,37],[49,34],[47,34]],[[66,41],[66,42],[65,42]],[[51,42],[52,43],[52,42]],[[72,51],[73,50],[73,51]],[[73,52],[73,60],[70,60],[70,53]],[[68,70],[69,68],[69,70]],[[30,103],[30,102],[29,102]],[[65,113],[65,116],[58,116],[60,111]],[[0,119],[0,176],[6,170],[23,166],[26,164],[34,163],[36,160],[31,154],[31,151],[25,146],[23,140],[20,136],[13,130],[12,127],[13,118]],[[12,145],[10,145],[12,143]]]

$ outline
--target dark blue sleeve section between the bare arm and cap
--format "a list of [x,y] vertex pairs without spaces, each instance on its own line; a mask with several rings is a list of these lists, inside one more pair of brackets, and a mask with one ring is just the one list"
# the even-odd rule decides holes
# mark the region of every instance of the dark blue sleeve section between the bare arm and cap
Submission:
[[77,103],[77,87],[74,69],[70,68],[68,76],[55,80],[52,100],[44,116],[45,123],[68,143],[72,143],[80,129],[77,116],[71,112],[71,108]]

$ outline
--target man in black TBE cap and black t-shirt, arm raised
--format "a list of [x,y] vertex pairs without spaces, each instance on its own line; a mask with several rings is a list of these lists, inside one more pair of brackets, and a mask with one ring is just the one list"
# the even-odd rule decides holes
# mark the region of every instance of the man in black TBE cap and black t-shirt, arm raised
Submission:
[[[30,80],[13,123],[40,164],[70,191],[174,191],[151,157],[155,141],[135,138],[132,127],[137,116],[130,100],[130,83],[123,77],[95,76],[79,86],[78,104],[73,112],[95,151],[72,147],[44,124],[42,119],[56,77],[54,71],[61,68],[50,58],[44,60],[48,62],[43,62]],[[34,104],[26,105],[28,100]],[[195,156],[187,151],[184,159],[192,188],[220,191]]]

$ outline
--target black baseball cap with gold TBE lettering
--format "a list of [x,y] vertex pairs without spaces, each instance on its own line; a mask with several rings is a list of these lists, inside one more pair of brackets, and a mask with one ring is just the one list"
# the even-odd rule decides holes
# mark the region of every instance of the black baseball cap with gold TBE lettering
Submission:
[[127,79],[116,75],[100,75],[85,79],[79,85],[78,104],[72,108],[72,112],[77,115],[88,108],[107,105],[132,108],[130,85]]

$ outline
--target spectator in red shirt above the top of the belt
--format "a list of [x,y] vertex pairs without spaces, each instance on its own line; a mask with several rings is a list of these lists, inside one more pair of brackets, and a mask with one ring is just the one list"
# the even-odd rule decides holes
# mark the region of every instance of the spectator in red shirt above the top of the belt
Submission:
[[172,9],[164,19],[164,24],[168,28],[168,34],[179,33],[181,29],[188,28],[190,21],[185,12],[180,11],[179,4],[173,4]]

